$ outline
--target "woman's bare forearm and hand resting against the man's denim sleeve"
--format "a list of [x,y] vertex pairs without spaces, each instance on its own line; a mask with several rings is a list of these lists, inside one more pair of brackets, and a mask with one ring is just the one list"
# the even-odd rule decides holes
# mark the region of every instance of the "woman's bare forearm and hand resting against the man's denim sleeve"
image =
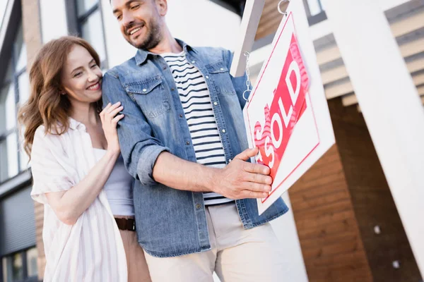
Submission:
[[[116,116],[122,111],[120,103],[107,105],[100,113],[102,127],[107,140],[105,156],[90,169],[87,176],[73,188],[61,192],[46,193],[47,202],[60,221],[73,225],[83,212],[90,207],[112,173],[119,157],[120,149],[117,137],[117,122],[124,115]],[[115,117],[116,116],[116,117]]]

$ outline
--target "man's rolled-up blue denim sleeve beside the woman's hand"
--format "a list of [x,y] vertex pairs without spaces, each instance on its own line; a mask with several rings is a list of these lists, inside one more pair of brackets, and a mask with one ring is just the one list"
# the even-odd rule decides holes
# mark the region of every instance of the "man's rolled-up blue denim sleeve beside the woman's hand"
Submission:
[[136,102],[129,97],[119,78],[107,72],[102,82],[103,105],[121,102],[124,118],[118,123],[119,145],[126,170],[143,185],[153,185],[153,166],[162,152],[170,149],[153,137],[151,126]]

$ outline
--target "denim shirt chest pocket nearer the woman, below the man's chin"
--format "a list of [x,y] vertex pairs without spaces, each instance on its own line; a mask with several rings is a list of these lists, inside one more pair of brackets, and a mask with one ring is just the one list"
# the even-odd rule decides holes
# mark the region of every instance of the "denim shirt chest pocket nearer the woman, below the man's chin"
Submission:
[[171,110],[170,100],[160,76],[131,83],[125,89],[148,118],[157,118]]

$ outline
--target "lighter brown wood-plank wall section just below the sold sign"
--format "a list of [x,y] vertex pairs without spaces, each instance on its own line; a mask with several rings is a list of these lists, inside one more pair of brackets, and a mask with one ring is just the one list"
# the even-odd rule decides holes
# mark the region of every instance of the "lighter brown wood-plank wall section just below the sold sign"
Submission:
[[372,281],[338,146],[289,193],[310,281]]

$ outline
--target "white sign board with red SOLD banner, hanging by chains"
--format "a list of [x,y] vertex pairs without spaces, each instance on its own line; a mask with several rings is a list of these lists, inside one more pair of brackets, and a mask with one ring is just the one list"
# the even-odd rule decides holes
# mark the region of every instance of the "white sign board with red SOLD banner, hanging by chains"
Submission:
[[267,197],[257,199],[259,215],[335,142],[301,1],[291,1],[286,13],[243,109],[248,145],[259,147],[256,161],[269,166],[273,178]]

